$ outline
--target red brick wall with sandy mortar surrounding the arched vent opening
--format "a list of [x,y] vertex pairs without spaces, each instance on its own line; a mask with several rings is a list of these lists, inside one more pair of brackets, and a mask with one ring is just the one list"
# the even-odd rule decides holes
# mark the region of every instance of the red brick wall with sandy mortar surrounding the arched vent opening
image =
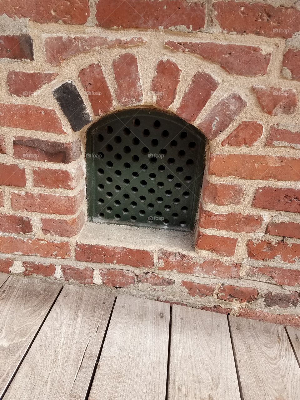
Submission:
[[[0,271],[300,326],[299,30],[292,0],[2,2]],[[86,129],[142,104],[208,138],[194,248],[88,239]]]

